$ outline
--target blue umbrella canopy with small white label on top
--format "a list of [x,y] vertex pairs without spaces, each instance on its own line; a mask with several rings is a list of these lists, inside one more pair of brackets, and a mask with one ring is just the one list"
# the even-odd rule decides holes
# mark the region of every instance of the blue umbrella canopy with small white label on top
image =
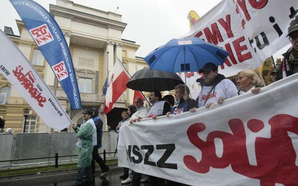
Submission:
[[229,52],[197,37],[172,39],[148,54],[144,60],[152,70],[198,72],[206,63],[222,65]]

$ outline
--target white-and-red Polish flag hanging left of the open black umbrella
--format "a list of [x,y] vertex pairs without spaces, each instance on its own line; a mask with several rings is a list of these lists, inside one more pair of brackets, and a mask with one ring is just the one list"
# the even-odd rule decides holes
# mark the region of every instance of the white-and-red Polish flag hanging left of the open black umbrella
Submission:
[[110,81],[107,88],[106,99],[104,102],[103,113],[108,114],[113,109],[113,104],[126,90],[126,83],[129,81],[129,74],[117,58],[113,71],[110,73]]

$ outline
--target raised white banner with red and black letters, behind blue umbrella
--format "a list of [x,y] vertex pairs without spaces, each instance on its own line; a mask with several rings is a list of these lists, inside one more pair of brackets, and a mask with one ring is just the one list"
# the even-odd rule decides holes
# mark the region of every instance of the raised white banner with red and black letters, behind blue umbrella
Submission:
[[[297,9],[297,0],[223,0],[197,20],[185,38],[199,37],[227,50],[230,55],[218,72],[229,77],[259,67],[290,44],[286,35]],[[196,84],[199,77],[188,72],[186,83]]]

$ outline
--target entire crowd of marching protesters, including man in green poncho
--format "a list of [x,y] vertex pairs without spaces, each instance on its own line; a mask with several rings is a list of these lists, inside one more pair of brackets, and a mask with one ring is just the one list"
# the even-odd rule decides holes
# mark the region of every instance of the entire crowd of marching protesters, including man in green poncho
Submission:
[[[296,17],[288,28],[289,40],[292,44],[289,50],[283,54],[284,59],[279,64],[278,68],[270,74],[273,81],[278,81],[298,72],[298,18]],[[120,128],[128,123],[135,123],[143,118],[156,119],[158,116],[171,114],[180,114],[183,112],[196,112],[197,108],[211,108],[213,104],[223,104],[224,100],[235,97],[237,95],[252,92],[253,94],[260,93],[261,87],[265,83],[259,75],[252,70],[243,70],[238,72],[235,78],[236,85],[222,74],[218,73],[218,66],[213,63],[205,64],[200,70],[204,78],[197,79],[201,85],[201,92],[198,98],[190,98],[190,90],[186,85],[179,84],[175,87],[175,98],[172,95],[162,94],[157,90],[152,90],[149,94],[149,102],[151,108],[144,107],[142,98],[135,99],[135,106],[128,106],[127,110],[121,112],[122,120],[116,127],[119,133]],[[76,137],[79,139],[76,146],[79,151],[78,174],[76,182],[73,186],[86,185],[95,181],[95,161],[100,165],[102,174],[100,177],[105,177],[108,173],[108,166],[98,155],[98,149],[102,146],[102,119],[98,116],[98,110],[92,108],[84,113],[84,124],[80,127],[73,126]],[[4,122],[3,122],[4,125]],[[143,176],[143,178],[142,178]],[[154,176],[141,175],[128,168],[124,168],[124,174],[120,176],[122,184],[130,183],[132,186],[140,186],[141,182],[149,181],[152,186],[164,185],[183,185],[171,180],[157,178]]]

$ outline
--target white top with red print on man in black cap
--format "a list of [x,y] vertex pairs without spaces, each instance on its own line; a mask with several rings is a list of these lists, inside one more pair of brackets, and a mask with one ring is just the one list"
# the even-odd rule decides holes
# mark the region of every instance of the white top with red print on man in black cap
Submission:
[[[200,95],[199,95],[199,103],[198,107],[204,107],[204,103],[207,99],[207,96],[212,89],[213,86],[203,86]],[[235,84],[229,79],[221,80],[215,88],[211,91],[209,95],[209,99],[207,100],[206,104],[216,102],[219,97],[223,97],[225,99],[232,98],[238,95],[238,90]]]

